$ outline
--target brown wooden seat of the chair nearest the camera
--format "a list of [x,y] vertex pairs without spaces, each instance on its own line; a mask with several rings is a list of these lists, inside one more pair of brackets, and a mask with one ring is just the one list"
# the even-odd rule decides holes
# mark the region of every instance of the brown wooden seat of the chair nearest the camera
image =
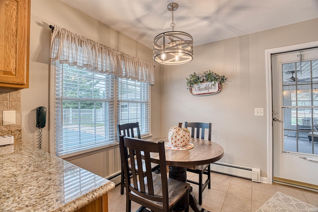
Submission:
[[[154,183],[154,194],[155,195],[162,195],[162,189],[161,189],[161,174],[156,174],[153,173],[153,183]],[[180,197],[182,197],[187,190],[190,187],[189,183],[185,183],[185,182],[181,182],[178,180],[174,180],[171,178],[167,178],[167,182],[168,182],[168,197],[169,197],[169,208],[171,208],[172,206],[174,206],[177,201],[180,199]],[[148,193],[148,184],[146,183],[145,186],[146,187],[146,192]],[[139,184],[138,184],[139,186]],[[135,193],[132,192],[133,197],[138,198],[138,199],[142,199],[142,200],[147,200]],[[148,200],[149,201],[149,200]],[[159,208],[162,207],[162,203],[161,202],[156,202],[156,201],[150,201],[153,204],[157,205]]]

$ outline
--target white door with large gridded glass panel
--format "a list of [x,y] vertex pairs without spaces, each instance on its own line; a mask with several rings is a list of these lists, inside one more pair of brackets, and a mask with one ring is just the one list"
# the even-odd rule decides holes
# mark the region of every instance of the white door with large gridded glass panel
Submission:
[[272,89],[273,181],[318,189],[318,50],[273,55]]

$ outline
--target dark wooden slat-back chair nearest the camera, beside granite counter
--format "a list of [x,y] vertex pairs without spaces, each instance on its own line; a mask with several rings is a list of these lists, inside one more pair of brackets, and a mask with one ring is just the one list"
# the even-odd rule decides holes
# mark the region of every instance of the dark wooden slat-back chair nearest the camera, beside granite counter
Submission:
[[[161,174],[152,172],[153,152],[159,154],[157,161],[161,170],[166,167],[164,141],[144,141],[122,135],[119,137],[119,147],[126,179],[126,212],[131,211],[131,201],[142,205],[138,209],[139,212],[147,209],[154,212],[171,212],[180,200],[184,200],[184,212],[189,211],[190,184],[167,178],[164,171]],[[132,177],[129,177],[130,169]]]

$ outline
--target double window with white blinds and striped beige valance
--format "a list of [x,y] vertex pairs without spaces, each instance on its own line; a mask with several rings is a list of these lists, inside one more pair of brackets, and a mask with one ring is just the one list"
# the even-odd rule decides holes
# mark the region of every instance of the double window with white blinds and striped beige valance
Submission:
[[153,64],[57,25],[49,60],[52,154],[68,157],[114,144],[116,124],[139,122],[142,135],[150,134]]

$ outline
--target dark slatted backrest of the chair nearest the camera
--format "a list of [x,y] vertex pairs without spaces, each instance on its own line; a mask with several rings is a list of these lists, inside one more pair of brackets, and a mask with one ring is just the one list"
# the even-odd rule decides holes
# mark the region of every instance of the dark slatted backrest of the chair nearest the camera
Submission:
[[[120,146],[121,158],[125,167],[124,168],[125,179],[129,179],[128,183],[126,183],[126,189],[129,190],[129,193],[133,192],[139,195],[140,197],[143,197],[148,200],[160,202],[163,204],[163,206],[167,206],[168,205],[167,174],[165,171],[162,171],[161,174],[153,173],[151,168],[151,163],[154,162],[151,160],[151,153],[155,152],[155,153],[159,153],[160,170],[166,169],[164,142],[163,141],[159,141],[159,142],[144,141],[141,139],[128,138],[128,137],[125,137],[124,135],[121,135],[119,137],[119,146]],[[129,165],[128,165],[128,159],[127,159],[128,151],[125,149],[129,149],[129,153],[130,153],[133,182],[131,182],[128,176],[129,174]],[[132,152],[135,152],[136,159],[132,157],[133,155]],[[137,161],[137,163],[135,161]],[[136,169],[138,169],[138,171]],[[138,173],[138,177],[136,176],[137,175],[136,171]],[[158,182],[158,179],[160,179],[160,183],[155,184],[154,182]]]

